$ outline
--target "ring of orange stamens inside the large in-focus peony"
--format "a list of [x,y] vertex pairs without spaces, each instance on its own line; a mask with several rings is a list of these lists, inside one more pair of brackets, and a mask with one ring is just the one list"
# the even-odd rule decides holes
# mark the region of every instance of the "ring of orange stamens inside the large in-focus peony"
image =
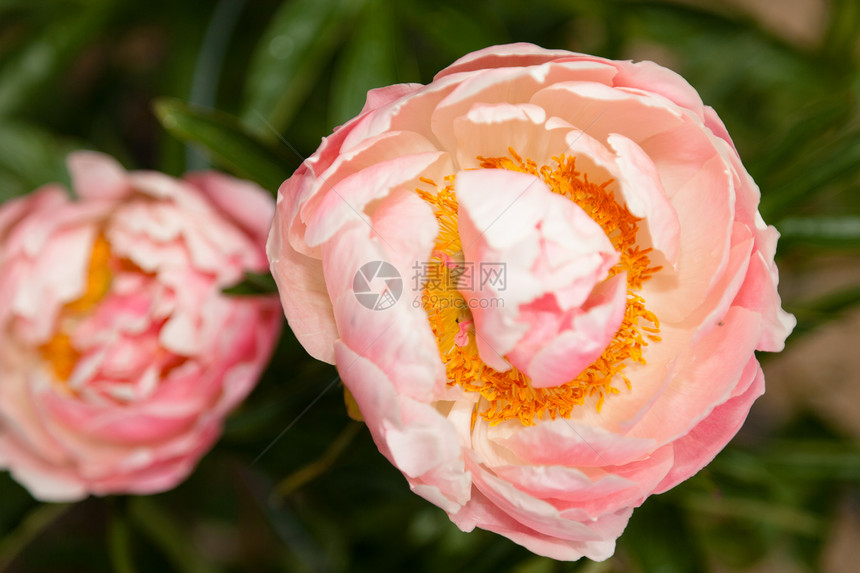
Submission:
[[534,388],[529,378],[516,368],[499,372],[484,364],[478,355],[469,305],[492,301],[466,301],[456,286],[451,288],[467,269],[458,233],[454,176],[446,177],[441,189],[435,182],[422,179],[436,188],[435,192],[416,191],[434,207],[440,229],[428,262],[422,301],[447,370],[448,385],[479,393],[482,400],[477,413],[494,425],[513,419],[528,426],[546,416],[569,418],[575,407],[591,397],[596,399],[599,412],[607,395],[620,393],[613,386],[616,379],[623,381],[628,390],[632,389],[624,369],[631,363],[645,364],[643,348],[648,340],[660,340],[660,323],[645,308],[645,300],[637,291],[661,267],[651,266],[650,248],[640,249],[636,244],[639,219],[615,201],[609,190],[611,180],[600,185],[590,182],[587,175],[576,170],[575,157],[562,155],[553,158],[553,164],[538,167],[530,159],[523,160],[513,149],[509,151],[511,157],[478,157],[481,168],[520,171],[539,177],[554,193],[579,205],[606,233],[620,255],[609,277],[627,272],[624,319],[603,354],[576,378],[560,386]]

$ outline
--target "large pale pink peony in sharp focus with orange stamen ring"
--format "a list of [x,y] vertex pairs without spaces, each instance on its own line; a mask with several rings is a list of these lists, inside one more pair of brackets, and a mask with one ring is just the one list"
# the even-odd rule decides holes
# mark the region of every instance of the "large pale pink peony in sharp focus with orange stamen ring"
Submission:
[[371,91],[281,187],[268,253],[415,493],[602,560],[737,432],[794,326],[758,202],[673,72],[514,44]]

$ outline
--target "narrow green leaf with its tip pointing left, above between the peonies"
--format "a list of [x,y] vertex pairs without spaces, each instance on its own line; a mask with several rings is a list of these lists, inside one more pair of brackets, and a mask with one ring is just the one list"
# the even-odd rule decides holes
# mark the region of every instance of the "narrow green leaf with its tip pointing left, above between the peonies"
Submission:
[[273,195],[298,166],[298,158],[261,141],[227,114],[175,99],[157,100],[155,113],[172,135],[200,146],[217,163],[239,177],[256,181]]

